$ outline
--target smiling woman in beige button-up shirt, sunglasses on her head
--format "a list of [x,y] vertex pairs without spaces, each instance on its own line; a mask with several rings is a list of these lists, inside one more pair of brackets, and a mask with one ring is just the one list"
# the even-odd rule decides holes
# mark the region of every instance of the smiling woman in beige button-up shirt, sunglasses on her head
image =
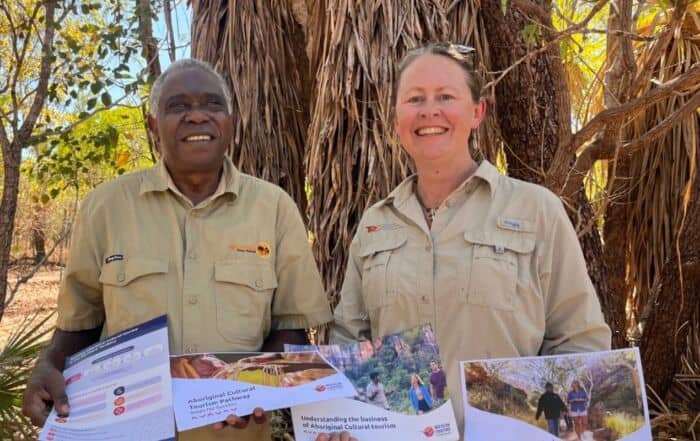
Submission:
[[[400,63],[394,124],[416,174],[364,213],[332,333],[344,343],[430,323],[448,390],[460,390],[459,360],[610,347],[559,198],[469,153],[486,112],[473,55],[429,44]],[[452,403],[461,430],[461,395]]]

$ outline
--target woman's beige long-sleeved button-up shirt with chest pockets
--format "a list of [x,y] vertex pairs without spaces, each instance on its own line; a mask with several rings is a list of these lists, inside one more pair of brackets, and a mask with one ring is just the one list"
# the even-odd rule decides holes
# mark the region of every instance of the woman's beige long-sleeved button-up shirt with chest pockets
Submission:
[[333,343],[430,323],[460,431],[460,360],[609,349],[578,239],[554,194],[483,161],[429,229],[415,179],[363,215]]

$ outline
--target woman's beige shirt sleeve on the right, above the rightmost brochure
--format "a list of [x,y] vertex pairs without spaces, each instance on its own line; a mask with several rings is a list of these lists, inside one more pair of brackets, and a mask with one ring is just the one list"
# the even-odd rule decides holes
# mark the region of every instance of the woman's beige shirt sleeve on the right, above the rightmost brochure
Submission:
[[610,328],[586,269],[578,237],[561,201],[554,207],[551,230],[545,239],[540,282],[546,308],[541,354],[610,349]]

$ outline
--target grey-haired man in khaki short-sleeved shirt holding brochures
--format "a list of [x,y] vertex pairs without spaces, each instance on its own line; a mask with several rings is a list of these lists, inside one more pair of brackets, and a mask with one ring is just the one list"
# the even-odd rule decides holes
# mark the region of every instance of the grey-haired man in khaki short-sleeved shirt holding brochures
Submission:
[[[170,65],[151,91],[148,126],[161,160],[98,186],[75,225],[53,340],[27,384],[23,411],[43,425],[70,407],[66,356],[168,315],[173,354],[280,351],[331,320],[298,209],[278,187],[225,156],[234,115],[205,63]],[[262,409],[182,440],[269,440]],[[226,425],[242,430],[215,430]]]

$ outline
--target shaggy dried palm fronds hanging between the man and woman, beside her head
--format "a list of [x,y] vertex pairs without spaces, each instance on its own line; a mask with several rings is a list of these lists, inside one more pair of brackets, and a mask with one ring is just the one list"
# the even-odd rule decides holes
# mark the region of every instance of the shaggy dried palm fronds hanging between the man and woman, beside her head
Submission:
[[315,78],[306,152],[310,227],[335,305],[362,212],[411,169],[392,135],[398,60],[407,48],[449,34],[437,1],[308,3],[307,53]]

